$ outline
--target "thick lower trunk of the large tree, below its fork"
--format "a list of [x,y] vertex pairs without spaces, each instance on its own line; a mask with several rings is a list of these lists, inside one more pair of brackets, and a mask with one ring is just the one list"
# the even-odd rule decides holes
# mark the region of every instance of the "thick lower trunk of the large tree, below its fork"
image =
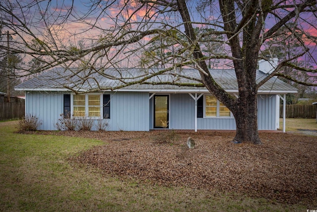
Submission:
[[236,121],[235,142],[261,144],[258,132],[257,95],[249,93],[239,98],[236,110],[232,111]]

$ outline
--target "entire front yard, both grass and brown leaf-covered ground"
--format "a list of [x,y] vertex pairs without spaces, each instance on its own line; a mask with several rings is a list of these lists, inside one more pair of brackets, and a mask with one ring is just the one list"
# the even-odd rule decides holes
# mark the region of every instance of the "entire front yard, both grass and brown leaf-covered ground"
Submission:
[[18,134],[14,125],[0,123],[0,211],[317,209],[316,120],[287,119],[292,133],[261,133],[263,145],[233,144],[232,132]]

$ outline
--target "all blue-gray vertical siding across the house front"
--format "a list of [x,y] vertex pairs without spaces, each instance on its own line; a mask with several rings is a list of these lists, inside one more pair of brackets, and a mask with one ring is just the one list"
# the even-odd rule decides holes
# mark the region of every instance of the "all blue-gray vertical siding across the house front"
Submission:
[[[153,98],[149,92],[105,92],[110,94],[109,131],[149,131],[153,129]],[[259,95],[259,130],[276,130],[276,97]],[[36,115],[43,125],[39,130],[56,130],[55,123],[63,113],[63,93],[26,92],[26,114]],[[195,129],[195,102],[187,93],[169,95],[169,128]],[[97,121],[95,121],[97,123]],[[234,118],[198,118],[199,130],[235,130]],[[96,130],[96,128],[93,128]]]

